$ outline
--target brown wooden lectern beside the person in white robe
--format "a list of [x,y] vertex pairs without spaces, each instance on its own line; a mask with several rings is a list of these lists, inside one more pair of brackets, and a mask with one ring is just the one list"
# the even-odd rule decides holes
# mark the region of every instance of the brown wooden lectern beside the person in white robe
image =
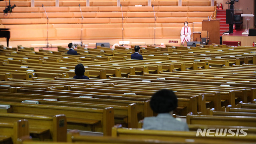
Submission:
[[209,43],[208,44],[220,44],[220,20],[203,20],[202,30],[209,32]]

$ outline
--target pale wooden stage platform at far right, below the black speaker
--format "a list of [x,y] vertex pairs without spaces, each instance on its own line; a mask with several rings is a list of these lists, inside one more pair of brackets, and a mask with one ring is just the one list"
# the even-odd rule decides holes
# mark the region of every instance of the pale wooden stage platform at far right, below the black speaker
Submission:
[[237,30],[233,34],[222,35],[222,44],[224,41],[234,42],[234,46],[237,46],[237,42],[241,42],[240,46],[252,46],[252,42],[256,42],[256,36],[248,36],[248,34],[242,34],[244,30]]

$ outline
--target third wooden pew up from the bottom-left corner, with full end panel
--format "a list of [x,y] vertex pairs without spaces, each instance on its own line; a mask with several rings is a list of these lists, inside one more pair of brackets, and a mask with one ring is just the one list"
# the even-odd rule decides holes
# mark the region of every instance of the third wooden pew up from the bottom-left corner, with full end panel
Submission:
[[[104,135],[110,135],[111,127],[114,126],[114,110],[112,107],[95,109],[68,106],[48,106],[39,104],[19,104],[12,102],[1,103],[10,104],[13,109],[12,113],[45,114],[48,116],[65,114],[69,129],[78,128],[80,130],[91,130],[103,132]],[[84,124],[89,126],[83,126]]]

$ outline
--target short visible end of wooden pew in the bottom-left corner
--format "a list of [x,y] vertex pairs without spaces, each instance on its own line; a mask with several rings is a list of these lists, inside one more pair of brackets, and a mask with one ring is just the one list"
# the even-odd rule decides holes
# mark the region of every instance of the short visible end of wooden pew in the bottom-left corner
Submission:
[[[14,123],[0,122],[0,136],[2,138],[6,136],[4,139],[11,138],[13,144],[20,144],[20,140],[29,140],[28,120],[18,120]],[[0,142],[4,142],[4,139],[0,140]]]

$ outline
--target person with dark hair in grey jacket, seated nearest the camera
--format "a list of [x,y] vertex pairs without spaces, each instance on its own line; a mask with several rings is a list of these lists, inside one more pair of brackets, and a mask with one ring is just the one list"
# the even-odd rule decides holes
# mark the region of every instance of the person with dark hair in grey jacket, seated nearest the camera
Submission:
[[143,127],[146,130],[188,131],[185,122],[172,117],[173,110],[178,106],[178,100],[172,90],[163,89],[151,97],[150,107],[158,115],[144,118]]

